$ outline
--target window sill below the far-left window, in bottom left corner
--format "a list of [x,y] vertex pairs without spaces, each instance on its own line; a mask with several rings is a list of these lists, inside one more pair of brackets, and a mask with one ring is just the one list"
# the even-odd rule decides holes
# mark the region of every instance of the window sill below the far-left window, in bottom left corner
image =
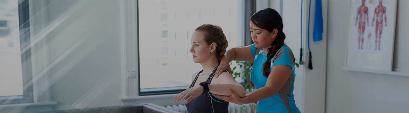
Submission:
[[54,106],[56,105],[57,105],[57,102],[7,104],[7,105],[0,105],[0,112],[22,113],[22,112],[52,111]]

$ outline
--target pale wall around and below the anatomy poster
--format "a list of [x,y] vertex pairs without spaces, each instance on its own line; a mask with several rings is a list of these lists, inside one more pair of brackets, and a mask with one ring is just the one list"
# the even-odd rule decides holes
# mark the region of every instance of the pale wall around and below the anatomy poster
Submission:
[[[409,77],[341,70],[344,66],[349,0],[328,0],[327,113],[407,113]],[[409,1],[398,1],[393,68],[409,69]]]

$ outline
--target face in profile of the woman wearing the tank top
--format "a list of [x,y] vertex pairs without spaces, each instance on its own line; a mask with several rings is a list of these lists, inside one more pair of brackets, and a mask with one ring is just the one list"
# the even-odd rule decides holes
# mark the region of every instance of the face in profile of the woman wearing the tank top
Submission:
[[204,32],[195,31],[192,35],[192,40],[190,43],[192,46],[189,52],[193,54],[193,62],[202,63],[203,61],[211,58],[211,53],[214,52],[214,49],[211,48],[211,45],[207,45],[205,42]]

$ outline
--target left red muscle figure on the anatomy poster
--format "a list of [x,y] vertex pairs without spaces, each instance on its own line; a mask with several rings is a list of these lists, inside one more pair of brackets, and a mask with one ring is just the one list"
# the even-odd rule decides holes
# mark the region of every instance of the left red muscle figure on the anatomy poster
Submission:
[[[368,7],[365,6],[365,0],[362,0],[362,5],[358,8],[358,14],[355,20],[355,26],[357,26],[357,22],[359,23],[358,25],[358,33],[359,33],[358,50],[359,49],[362,50],[362,45],[364,44],[364,33],[365,33],[365,25],[366,25],[365,20],[369,26]],[[378,26],[378,23],[377,23],[377,26]]]

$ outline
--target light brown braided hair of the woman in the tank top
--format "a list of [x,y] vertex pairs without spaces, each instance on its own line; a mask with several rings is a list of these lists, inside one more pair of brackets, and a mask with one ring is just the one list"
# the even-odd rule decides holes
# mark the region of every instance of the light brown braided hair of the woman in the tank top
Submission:
[[220,60],[222,59],[222,56],[225,54],[226,48],[229,45],[222,28],[212,24],[203,24],[202,26],[196,28],[196,31],[205,32],[205,42],[207,45],[210,45],[213,42],[216,43],[216,58],[220,63]]

